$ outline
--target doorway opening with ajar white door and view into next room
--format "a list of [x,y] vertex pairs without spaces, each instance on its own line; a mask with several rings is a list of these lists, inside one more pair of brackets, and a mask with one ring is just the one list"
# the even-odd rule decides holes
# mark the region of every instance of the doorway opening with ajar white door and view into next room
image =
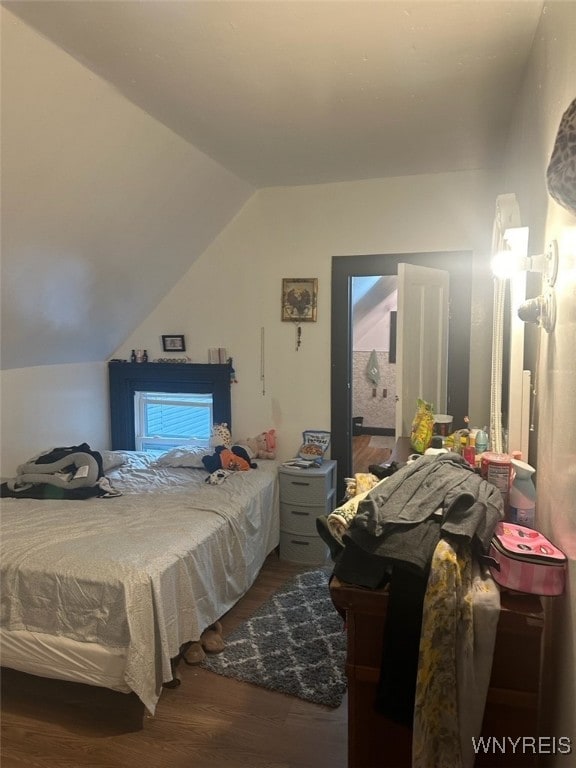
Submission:
[[352,278],[353,472],[390,458],[420,399],[447,413],[449,299],[448,272],[420,264]]

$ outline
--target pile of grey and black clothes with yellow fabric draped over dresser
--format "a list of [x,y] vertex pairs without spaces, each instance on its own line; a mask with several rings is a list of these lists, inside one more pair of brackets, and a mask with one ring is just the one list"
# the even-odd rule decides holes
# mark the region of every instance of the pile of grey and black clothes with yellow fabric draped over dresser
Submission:
[[412,768],[471,766],[500,611],[481,563],[504,518],[502,494],[443,453],[346,504],[334,511],[338,536],[328,520],[321,532],[333,537],[334,575],[389,593],[375,707],[412,728]]

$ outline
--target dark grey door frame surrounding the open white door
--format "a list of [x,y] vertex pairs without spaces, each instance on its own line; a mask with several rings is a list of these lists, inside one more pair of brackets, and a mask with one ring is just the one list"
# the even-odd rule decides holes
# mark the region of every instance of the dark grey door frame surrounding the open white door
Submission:
[[468,414],[470,370],[470,251],[334,256],[332,259],[331,432],[332,458],[338,461],[338,496],[352,463],[352,279],[396,275],[400,263],[446,270],[450,275],[447,408],[460,424]]

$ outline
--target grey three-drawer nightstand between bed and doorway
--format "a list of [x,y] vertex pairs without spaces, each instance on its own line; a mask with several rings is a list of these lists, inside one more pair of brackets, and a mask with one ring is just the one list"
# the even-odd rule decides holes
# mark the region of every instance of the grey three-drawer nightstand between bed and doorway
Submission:
[[316,518],[336,506],[336,462],[315,469],[279,467],[280,558],[305,565],[324,565],[328,548],[316,530]]

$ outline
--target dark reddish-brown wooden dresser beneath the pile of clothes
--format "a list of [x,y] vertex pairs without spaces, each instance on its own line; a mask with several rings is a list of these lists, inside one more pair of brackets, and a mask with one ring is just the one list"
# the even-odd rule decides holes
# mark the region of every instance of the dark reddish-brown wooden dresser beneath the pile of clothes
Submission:
[[[388,605],[385,589],[364,589],[332,579],[334,605],[346,616],[348,651],[348,768],[410,768],[412,732],[375,711]],[[538,734],[542,605],[532,595],[502,593],[496,646],[482,735]],[[533,768],[533,754],[510,749],[478,756],[478,768]],[[434,768],[430,766],[430,768]]]

